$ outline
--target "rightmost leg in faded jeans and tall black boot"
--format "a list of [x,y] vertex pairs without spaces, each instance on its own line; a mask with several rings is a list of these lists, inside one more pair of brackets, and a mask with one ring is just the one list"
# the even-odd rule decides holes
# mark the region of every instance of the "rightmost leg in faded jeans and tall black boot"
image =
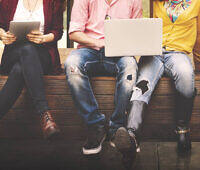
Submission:
[[184,53],[168,53],[166,72],[174,80],[177,90],[175,122],[178,150],[187,151],[191,148],[189,122],[195,97],[194,71],[189,57]]

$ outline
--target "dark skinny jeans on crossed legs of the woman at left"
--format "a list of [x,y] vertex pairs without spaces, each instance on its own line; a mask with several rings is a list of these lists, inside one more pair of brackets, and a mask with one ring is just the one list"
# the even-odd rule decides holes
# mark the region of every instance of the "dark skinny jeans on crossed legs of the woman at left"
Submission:
[[49,109],[45,97],[43,75],[52,69],[51,56],[42,45],[16,43],[5,47],[6,61],[2,62],[3,73],[8,80],[0,90],[0,118],[14,105],[26,86],[37,113]]

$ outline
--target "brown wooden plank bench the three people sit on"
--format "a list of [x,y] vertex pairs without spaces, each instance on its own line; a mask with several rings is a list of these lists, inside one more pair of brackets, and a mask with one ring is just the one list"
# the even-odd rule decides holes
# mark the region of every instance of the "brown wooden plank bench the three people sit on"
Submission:
[[[61,61],[65,60],[71,49],[60,49]],[[0,76],[0,89],[7,76]],[[73,104],[65,75],[45,76],[45,90],[49,107],[62,131],[62,138],[82,140],[85,138],[85,125]],[[191,120],[193,141],[200,141],[200,74],[196,74],[198,94],[195,99]],[[107,117],[114,109],[114,77],[93,77],[92,87],[99,108]],[[173,141],[174,86],[169,78],[162,78],[153,94],[144,122],[144,141]],[[26,89],[23,90],[13,108],[0,120],[0,138],[5,139],[41,139],[39,116],[34,113]]]

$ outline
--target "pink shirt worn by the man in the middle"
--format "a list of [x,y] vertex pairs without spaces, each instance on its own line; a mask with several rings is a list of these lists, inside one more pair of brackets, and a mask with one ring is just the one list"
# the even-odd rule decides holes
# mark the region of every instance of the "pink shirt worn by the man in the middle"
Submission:
[[[142,0],[74,0],[69,34],[84,32],[91,38],[104,39],[104,20],[142,17]],[[82,46],[78,46],[80,48]]]

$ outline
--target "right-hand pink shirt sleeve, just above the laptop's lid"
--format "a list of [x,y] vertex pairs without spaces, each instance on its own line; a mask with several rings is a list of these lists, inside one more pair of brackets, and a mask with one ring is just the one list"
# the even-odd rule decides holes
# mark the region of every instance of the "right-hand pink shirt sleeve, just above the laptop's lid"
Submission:
[[133,0],[133,10],[131,18],[142,18],[142,0]]

